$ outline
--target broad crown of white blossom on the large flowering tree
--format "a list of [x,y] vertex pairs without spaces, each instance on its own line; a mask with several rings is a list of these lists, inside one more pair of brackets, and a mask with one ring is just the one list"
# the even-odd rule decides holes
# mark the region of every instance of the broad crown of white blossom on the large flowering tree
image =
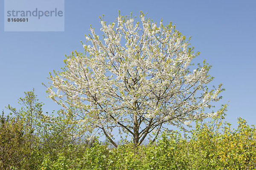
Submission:
[[82,119],[90,118],[107,137],[113,127],[122,127],[134,140],[144,139],[165,124],[189,125],[212,116],[197,111],[220,99],[221,85],[215,91],[207,88],[213,78],[206,62],[189,71],[198,53],[175,26],[162,21],[157,26],[143,13],[140,23],[119,16],[112,24],[101,24],[103,42],[91,28],[85,54],[72,52],[63,71],[50,74],[50,98],[83,110]]

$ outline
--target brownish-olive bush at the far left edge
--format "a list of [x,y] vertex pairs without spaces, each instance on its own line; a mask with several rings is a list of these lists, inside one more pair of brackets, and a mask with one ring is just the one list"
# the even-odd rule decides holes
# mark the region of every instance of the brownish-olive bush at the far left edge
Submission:
[[38,167],[40,153],[35,149],[34,139],[24,131],[22,119],[0,116],[0,170]]

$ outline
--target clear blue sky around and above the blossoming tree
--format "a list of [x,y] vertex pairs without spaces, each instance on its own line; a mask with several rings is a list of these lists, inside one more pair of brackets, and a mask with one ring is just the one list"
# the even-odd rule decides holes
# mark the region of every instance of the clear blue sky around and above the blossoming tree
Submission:
[[61,108],[46,98],[48,72],[63,67],[65,54],[83,51],[90,25],[100,33],[99,16],[107,23],[122,15],[139,11],[154,22],[170,21],[182,34],[192,36],[191,45],[200,56],[195,63],[206,61],[213,67],[213,85],[223,83],[226,91],[218,102],[229,106],[226,120],[236,125],[241,116],[256,124],[256,1],[255,0],[65,0],[64,32],[4,32],[4,6],[0,6],[0,109],[8,104],[18,107],[24,91],[35,88],[44,112]]

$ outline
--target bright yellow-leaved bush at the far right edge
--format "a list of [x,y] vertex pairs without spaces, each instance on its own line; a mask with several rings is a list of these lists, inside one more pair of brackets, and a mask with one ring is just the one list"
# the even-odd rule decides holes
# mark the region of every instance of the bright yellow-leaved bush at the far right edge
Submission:
[[240,117],[238,124],[236,130],[230,130],[230,124],[224,127],[217,145],[218,164],[228,170],[256,168],[256,129]]

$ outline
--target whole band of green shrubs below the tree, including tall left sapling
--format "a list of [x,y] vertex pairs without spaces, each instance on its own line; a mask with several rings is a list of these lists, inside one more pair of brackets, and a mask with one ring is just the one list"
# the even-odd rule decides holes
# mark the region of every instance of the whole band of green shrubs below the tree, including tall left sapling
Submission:
[[256,169],[256,128],[239,117],[231,129],[226,106],[209,122],[198,120],[190,136],[165,131],[156,142],[122,141],[110,149],[97,138],[88,141],[72,112],[46,116],[37,101],[34,91],[25,92],[20,110],[8,106],[12,114],[0,116],[0,170]]

